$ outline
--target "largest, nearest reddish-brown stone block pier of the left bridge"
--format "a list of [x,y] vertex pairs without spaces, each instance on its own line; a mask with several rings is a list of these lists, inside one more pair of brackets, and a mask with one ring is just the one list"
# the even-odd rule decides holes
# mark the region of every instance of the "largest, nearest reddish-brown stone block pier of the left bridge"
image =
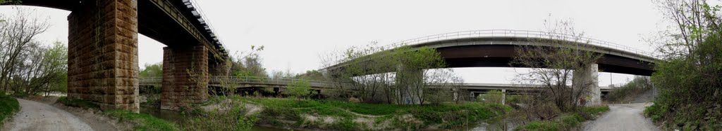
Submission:
[[68,24],[68,97],[139,112],[137,1],[82,1]]

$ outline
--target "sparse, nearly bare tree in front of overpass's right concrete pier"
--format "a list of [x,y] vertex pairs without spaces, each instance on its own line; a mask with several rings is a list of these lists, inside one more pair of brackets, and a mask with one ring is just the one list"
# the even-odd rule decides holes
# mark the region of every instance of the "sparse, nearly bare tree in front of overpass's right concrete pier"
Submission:
[[573,76],[573,72],[588,69],[601,54],[584,50],[592,47],[583,39],[583,33],[573,29],[571,21],[555,21],[545,25],[550,34],[569,34],[571,39],[549,35],[549,38],[530,39],[537,44],[518,47],[518,55],[511,64],[529,67],[530,71],[520,72],[516,79],[527,84],[542,85],[544,95],[537,95],[538,99],[534,100],[541,100],[541,103],[552,102],[564,112],[576,110],[580,104],[578,100],[591,93],[590,89],[596,86],[596,82],[574,83],[573,77],[582,76]]

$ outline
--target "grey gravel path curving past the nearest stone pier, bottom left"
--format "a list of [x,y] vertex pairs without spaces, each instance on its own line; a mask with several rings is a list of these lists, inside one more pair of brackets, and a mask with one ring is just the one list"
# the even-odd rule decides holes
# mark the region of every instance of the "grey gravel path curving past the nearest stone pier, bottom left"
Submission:
[[17,99],[20,112],[2,130],[92,130],[79,117],[51,105]]

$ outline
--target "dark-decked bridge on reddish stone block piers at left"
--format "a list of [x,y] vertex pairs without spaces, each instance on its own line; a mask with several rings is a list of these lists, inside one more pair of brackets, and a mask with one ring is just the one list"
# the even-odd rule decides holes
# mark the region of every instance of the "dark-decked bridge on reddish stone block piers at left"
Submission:
[[[206,99],[207,77],[222,74],[227,51],[191,0],[22,0],[20,5],[71,11],[68,16],[68,97],[102,110],[139,111],[138,34],[165,44],[163,109]],[[188,87],[183,90],[181,88]],[[187,101],[184,101],[187,102]]]

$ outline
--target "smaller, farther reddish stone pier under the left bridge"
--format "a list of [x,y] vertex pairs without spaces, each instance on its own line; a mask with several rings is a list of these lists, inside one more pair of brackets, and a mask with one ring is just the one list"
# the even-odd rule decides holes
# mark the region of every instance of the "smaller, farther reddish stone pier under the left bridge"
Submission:
[[164,47],[160,108],[178,110],[208,96],[208,50],[204,46]]

